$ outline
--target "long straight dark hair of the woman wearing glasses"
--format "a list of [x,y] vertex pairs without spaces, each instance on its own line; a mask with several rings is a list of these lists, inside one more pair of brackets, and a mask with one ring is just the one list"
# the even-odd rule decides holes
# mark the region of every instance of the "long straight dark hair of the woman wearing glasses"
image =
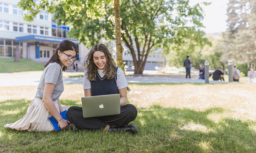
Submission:
[[[59,55],[58,55],[58,50],[62,51],[62,52],[65,52],[67,50],[73,50],[76,52],[76,56],[77,56],[77,47],[76,47],[76,44],[72,41],[69,41],[69,40],[62,40],[59,45],[57,46],[57,48],[55,49],[55,51],[53,52],[52,54],[52,57],[51,59],[44,65],[44,68],[46,68],[50,63],[53,63],[53,62],[56,62],[58,64],[60,64],[60,66],[62,65],[62,63],[60,62],[60,58],[59,58]],[[75,61],[73,61],[70,65],[72,66],[74,64]],[[67,66],[64,66],[62,71],[66,71],[68,69]]]

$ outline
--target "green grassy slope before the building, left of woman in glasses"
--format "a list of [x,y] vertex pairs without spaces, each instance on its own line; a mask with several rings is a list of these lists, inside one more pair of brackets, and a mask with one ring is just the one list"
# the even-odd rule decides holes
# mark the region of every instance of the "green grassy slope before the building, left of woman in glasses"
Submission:
[[0,72],[22,72],[22,71],[41,71],[44,64],[20,58],[20,62],[14,62],[13,58],[0,59]]

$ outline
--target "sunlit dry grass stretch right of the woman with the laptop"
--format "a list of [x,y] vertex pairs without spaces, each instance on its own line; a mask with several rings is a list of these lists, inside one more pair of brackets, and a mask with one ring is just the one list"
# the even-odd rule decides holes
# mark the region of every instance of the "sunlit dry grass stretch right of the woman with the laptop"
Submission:
[[229,115],[234,118],[256,119],[255,84],[132,84],[129,88],[129,100],[138,108],[147,108],[154,104],[197,111],[221,107],[230,112],[212,115],[216,121]]

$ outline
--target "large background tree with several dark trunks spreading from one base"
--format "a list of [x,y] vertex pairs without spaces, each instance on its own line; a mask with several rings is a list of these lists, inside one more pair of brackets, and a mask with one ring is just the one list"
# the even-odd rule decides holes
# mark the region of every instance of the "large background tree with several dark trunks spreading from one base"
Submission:
[[[86,9],[67,14],[62,4],[56,7],[56,18],[72,23],[70,36],[87,45],[93,45],[102,38],[113,40],[115,22],[113,11],[106,9],[103,18],[88,18]],[[124,0],[120,5],[122,40],[132,54],[134,73],[142,74],[151,51],[162,48],[182,49],[182,54],[193,51],[195,46],[209,43],[204,38],[200,22],[204,16],[199,4],[189,6],[187,0]]]

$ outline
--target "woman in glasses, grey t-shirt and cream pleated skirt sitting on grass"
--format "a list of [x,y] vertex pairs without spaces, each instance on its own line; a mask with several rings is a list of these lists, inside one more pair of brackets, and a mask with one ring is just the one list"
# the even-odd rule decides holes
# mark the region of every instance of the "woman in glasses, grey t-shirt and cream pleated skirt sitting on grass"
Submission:
[[51,59],[44,65],[45,69],[40,78],[35,99],[28,106],[27,113],[20,120],[5,124],[4,127],[19,131],[54,131],[48,120],[49,117],[54,116],[61,129],[68,128],[70,122],[64,120],[60,112],[68,110],[69,107],[61,105],[59,97],[64,91],[62,71],[67,70],[70,63],[74,64],[76,58],[76,44],[69,40],[62,40]]

